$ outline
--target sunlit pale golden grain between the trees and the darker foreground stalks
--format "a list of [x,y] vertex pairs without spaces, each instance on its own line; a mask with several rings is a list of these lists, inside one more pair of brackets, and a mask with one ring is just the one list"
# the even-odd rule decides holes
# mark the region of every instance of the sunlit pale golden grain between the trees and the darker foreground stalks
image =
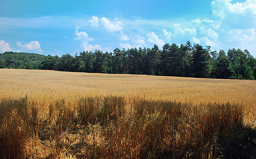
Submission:
[[0,98],[23,97],[38,102],[82,95],[121,95],[127,98],[170,99],[193,104],[243,103],[245,122],[256,120],[256,81],[129,74],[0,69]]

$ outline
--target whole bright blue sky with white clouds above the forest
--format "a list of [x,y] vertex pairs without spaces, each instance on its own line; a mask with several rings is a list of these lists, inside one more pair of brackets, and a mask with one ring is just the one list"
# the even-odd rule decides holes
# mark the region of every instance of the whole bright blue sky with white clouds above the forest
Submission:
[[0,53],[198,43],[256,57],[256,0],[1,0]]

